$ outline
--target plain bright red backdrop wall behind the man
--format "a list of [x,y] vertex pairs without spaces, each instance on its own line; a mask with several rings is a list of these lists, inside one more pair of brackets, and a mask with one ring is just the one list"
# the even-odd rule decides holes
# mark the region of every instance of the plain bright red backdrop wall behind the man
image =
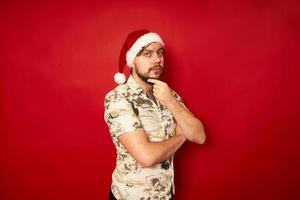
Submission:
[[107,199],[103,99],[139,28],[208,136],[177,153],[176,199],[300,199],[299,1],[83,2],[1,3],[1,199]]

